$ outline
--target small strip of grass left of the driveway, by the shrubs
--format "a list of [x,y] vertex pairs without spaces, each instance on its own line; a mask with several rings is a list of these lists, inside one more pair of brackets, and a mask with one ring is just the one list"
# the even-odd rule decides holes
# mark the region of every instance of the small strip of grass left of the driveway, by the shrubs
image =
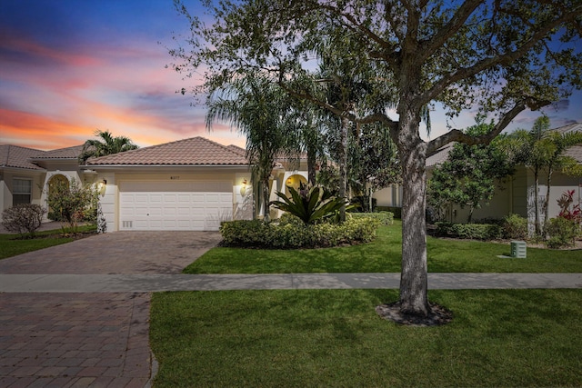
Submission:
[[[85,225],[79,227],[79,232],[93,232],[96,230],[95,225]],[[19,239],[18,234],[0,234],[0,259],[12,257],[17,254],[37,251],[65,243],[70,243],[74,238],[58,237],[61,234],[60,229],[38,232],[33,239]],[[42,238],[40,238],[42,237]]]

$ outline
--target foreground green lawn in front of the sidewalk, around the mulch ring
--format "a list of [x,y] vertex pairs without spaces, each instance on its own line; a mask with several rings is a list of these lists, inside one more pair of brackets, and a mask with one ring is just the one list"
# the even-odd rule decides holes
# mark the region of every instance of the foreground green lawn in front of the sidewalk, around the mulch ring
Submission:
[[155,387],[580,386],[582,290],[432,291],[454,320],[379,318],[391,290],[155,293]]

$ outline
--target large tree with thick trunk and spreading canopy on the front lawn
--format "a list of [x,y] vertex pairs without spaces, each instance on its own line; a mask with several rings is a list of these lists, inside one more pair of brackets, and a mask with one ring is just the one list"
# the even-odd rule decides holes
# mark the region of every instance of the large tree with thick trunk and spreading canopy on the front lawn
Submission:
[[[204,91],[246,72],[270,75],[288,93],[347,120],[390,128],[402,166],[402,313],[426,316],[426,156],[453,141],[487,143],[517,114],[567,97],[582,84],[577,52],[579,0],[224,0],[205,1],[211,21],[189,15],[192,35],[172,50],[177,71],[202,72]],[[294,83],[316,68],[317,48],[334,47],[338,61],[367,79],[371,105],[395,106],[361,114],[328,104]],[[579,47],[579,45],[578,45]],[[313,83],[325,82],[315,75]],[[451,129],[421,139],[433,104],[450,114],[478,107],[494,114],[484,135]],[[434,126],[433,122],[433,126]]]

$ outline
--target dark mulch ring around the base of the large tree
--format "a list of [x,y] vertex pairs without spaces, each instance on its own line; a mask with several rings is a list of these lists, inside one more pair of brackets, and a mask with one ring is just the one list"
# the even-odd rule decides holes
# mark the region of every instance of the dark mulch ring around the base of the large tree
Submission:
[[429,303],[431,313],[428,316],[418,316],[400,311],[400,303],[380,304],[376,307],[376,313],[388,321],[403,324],[405,326],[428,327],[441,326],[453,320],[453,313],[437,303]]

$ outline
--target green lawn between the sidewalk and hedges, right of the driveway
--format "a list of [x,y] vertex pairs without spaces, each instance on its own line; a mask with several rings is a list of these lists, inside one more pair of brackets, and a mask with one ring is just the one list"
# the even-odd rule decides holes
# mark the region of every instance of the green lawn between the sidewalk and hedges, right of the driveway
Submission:
[[[185,269],[186,274],[398,273],[401,223],[381,226],[374,242],[355,246],[265,250],[214,248]],[[427,238],[431,273],[579,273],[580,251],[527,248],[527,259],[509,255],[509,244]]]

